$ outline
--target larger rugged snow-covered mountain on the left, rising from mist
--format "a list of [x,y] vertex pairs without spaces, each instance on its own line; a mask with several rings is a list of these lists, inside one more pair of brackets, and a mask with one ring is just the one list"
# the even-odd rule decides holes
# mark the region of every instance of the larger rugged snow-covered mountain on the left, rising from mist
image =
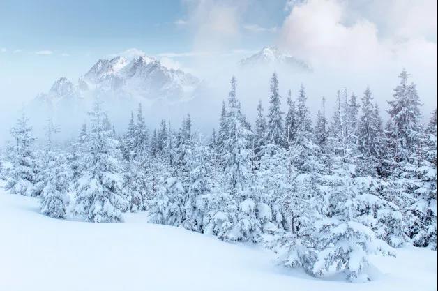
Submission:
[[[90,70],[73,84],[61,77],[50,91],[38,94],[36,103],[59,107],[62,103],[99,94],[113,98],[130,98],[177,102],[192,96],[199,80],[182,70],[167,68],[151,57],[99,59]],[[68,102],[69,103],[69,102]]]

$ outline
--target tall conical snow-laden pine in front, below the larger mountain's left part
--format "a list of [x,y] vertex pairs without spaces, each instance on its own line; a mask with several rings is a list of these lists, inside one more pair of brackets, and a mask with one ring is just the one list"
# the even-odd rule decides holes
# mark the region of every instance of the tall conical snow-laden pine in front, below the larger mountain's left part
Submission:
[[99,98],[89,116],[91,128],[85,138],[82,157],[84,174],[75,183],[74,211],[89,222],[121,222],[121,209],[125,210],[127,203],[121,189],[119,142],[112,138],[111,130],[104,123],[107,113]]

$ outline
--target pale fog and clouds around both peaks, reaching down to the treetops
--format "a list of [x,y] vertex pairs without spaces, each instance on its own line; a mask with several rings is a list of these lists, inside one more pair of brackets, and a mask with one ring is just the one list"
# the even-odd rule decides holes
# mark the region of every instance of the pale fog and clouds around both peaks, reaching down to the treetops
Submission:
[[[237,94],[243,112],[253,121],[258,100],[264,103],[265,111],[269,106],[269,82],[274,71],[278,73],[284,110],[287,91],[292,90],[294,97],[301,84],[305,86],[313,116],[325,96],[329,117],[336,91],[346,88],[349,94],[354,92],[360,97],[365,87],[370,86],[386,119],[386,101],[391,100],[398,74],[406,68],[411,82],[417,84],[424,104],[423,114],[428,118],[436,107],[437,96],[435,1],[289,2],[285,6],[285,19],[280,27],[273,29],[275,36],[264,45],[277,45],[285,53],[305,61],[312,67],[310,73],[278,66],[249,69],[239,66],[242,58],[262,49],[262,45],[240,49],[244,47],[246,33],[250,33],[243,29],[244,17],[250,9],[248,1],[237,4],[234,1],[183,1],[186,21],[181,24],[192,38],[192,49],[174,53],[169,45],[167,52],[152,54],[152,57],[169,68],[192,73],[201,80],[201,85],[193,98],[176,104],[149,104],[149,100],[144,100],[149,128],[156,128],[161,119],[170,120],[172,126],[178,128],[182,117],[190,114],[195,128],[209,134],[218,126],[221,103],[227,99],[232,75],[237,78]],[[126,47],[131,47],[130,43],[126,43]],[[1,143],[10,138],[9,128],[22,110],[31,118],[40,139],[48,117],[61,124],[63,138],[75,137],[80,124],[86,120],[92,96],[75,110],[66,108],[48,113],[29,105],[36,94],[47,92],[58,77],[67,76],[76,83],[100,58],[139,54],[149,55],[147,47],[72,56],[68,61],[62,59],[47,64],[27,59],[26,63],[16,61],[13,71],[6,69],[14,66],[13,60],[0,59]],[[123,134],[130,110],[136,110],[137,100],[125,103],[114,101],[110,96],[100,97],[106,103],[116,130]]]

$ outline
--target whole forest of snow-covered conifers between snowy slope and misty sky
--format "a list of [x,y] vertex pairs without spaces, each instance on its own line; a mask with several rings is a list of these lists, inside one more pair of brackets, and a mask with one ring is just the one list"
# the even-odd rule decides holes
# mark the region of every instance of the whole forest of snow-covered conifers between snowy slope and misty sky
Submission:
[[367,281],[370,254],[437,248],[436,110],[423,118],[405,70],[399,80],[387,121],[365,87],[338,91],[331,117],[322,98],[313,123],[305,87],[284,98],[275,73],[254,124],[232,77],[208,137],[190,115],[149,128],[141,105],[117,133],[96,99],[77,137],[54,144],[48,122],[39,148],[23,114],[1,176],[53,218],[122,222],[127,211],[149,211],[152,223],[263,244],[312,276]]

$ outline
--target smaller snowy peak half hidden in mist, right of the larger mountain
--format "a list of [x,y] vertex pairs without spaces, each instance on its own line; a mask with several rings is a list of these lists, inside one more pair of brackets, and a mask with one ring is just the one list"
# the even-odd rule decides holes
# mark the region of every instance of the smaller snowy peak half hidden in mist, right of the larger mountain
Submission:
[[242,67],[254,66],[284,66],[301,71],[311,71],[312,68],[300,59],[283,53],[278,47],[264,47],[252,56],[242,59],[239,64]]

